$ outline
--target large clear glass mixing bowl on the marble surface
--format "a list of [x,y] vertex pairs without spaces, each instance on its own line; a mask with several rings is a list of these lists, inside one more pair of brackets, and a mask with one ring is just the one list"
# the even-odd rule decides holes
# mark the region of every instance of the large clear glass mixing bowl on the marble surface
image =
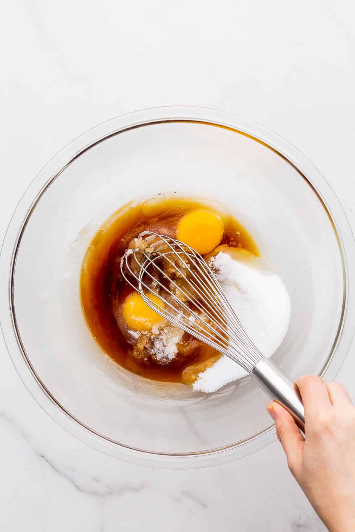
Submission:
[[275,438],[266,395],[249,377],[209,395],[135,376],[100,350],[80,308],[81,263],[95,232],[123,204],[158,191],[220,202],[250,231],[291,297],[274,358],[293,378],[333,379],[348,352],[354,242],[306,157],[258,124],[210,109],[115,118],[74,140],[32,182],[0,263],[2,329],[24,384],[62,427],[102,452],[202,467]]

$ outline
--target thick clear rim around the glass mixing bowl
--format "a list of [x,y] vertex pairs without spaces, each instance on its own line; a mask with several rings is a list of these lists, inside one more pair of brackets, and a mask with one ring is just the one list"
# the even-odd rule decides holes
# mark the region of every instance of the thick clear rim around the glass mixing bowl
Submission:
[[[355,272],[355,242],[348,219],[332,188],[317,168],[292,144],[273,131],[256,122],[225,111],[205,107],[168,106],[145,109],[121,115],[104,122],[80,135],[57,153],[38,173],[23,194],[7,228],[0,253],[1,302],[0,324],[7,350],[23,384],[45,412],[70,434],[105,454],[128,462],[148,467],[187,469],[228,462],[251,454],[276,439],[273,425],[262,433],[228,447],[192,454],[152,453],[114,442],[86,427],[66,411],[51,395],[39,379],[35,368],[26,357],[26,350],[16,331],[13,308],[12,281],[21,236],[36,204],[51,183],[61,172],[90,147],[127,129],[159,122],[200,122],[230,128],[239,134],[251,137],[272,149],[291,163],[300,177],[305,179],[316,193],[333,224],[343,260],[344,301],[339,331],[331,353],[320,375],[333,380],[349,351],[355,333],[355,288],[352,272]],[[349,279],[351,277],[351,279]]]

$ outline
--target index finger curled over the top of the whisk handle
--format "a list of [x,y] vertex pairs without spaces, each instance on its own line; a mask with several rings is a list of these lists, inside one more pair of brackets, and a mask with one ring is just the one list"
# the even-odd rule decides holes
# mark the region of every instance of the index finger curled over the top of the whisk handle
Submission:
[[332,403],[328,395],[328,389],[323,379],[307,375],[296,380],[304,405],[304,418],[312,423],[331,409]]

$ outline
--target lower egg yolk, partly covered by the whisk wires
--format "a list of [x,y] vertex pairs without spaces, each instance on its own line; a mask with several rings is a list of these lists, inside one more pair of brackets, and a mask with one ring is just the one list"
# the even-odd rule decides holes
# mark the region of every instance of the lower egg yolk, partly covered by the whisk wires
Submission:
[[[164,309],[165,304],[158,296],[150,294],[147,297]],[[123,319],[129,328],[137,331],[150,331],[154,325],[163,321],[161,315],[151,309],[138,292],[130,294],[123,302]]]

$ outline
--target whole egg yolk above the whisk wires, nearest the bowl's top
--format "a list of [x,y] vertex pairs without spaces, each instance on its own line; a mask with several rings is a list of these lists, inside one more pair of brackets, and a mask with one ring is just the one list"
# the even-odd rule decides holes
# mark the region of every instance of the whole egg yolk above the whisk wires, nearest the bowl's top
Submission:
[[192,211],[181,218],[176,237],[204,255],[220,243],[223,223],[218,214],[210,211]]

